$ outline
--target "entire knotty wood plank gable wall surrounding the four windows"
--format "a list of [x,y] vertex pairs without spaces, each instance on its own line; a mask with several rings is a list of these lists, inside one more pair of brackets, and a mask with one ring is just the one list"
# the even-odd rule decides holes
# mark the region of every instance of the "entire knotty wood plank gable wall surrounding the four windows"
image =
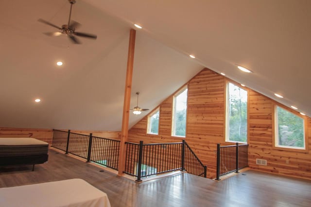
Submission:
[[[207,165],[207,177],[216,177],[216,146],[225,142],[225,84],[227,79],[207,68],[188,82],[188,114],[186,142]],[[303,152],[273,147],[273,107],[275,101],[248,89],[249,166],[259,171],[311,179],[311,118],[308,143]],[[139,143],[180,142],[172,137],[173,95],[160,104],[159,135],[147,134],[147,115],[129,130],[128,141]],[[152,112],[152,111],[151,111]],[[268,165],[256,164],[267,159]],[[288,164],[287,164],[288,163]]]

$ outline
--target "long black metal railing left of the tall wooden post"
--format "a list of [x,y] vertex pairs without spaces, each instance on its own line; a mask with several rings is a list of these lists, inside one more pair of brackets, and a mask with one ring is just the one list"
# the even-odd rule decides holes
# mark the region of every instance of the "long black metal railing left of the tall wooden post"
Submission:
[[52,147],[118,170],[120,141],[53,129]]

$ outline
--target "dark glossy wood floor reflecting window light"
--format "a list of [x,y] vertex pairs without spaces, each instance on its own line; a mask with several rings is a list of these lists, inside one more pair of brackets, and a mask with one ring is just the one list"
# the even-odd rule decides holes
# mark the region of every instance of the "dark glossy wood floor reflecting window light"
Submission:
[[107,193],[112,207],[311,206],[311,181],[256,171],[220,182],[181,173],[138,184],[53,150],[48,163],[31,170],[32,166],[0,168],[0,188],[82,178]]

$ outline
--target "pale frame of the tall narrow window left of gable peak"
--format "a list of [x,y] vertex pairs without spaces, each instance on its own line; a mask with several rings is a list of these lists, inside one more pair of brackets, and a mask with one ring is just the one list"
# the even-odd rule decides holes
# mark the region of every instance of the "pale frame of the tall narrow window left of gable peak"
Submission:
[[[176,97],[182,94],[185,90],[187,90],[187,108],[186,108],[186,126],[185,126],[185,136],[180,136],[176,135]],[[177,138],[186,138],[187,135],[187,119],[188,119],[188,95],[189,95],[189,90],[188,90],[188,85],[183,86],[180,90],[178,90],[177,93],[173,95],[173,105],[172,105],[172,131],[171,131],[171,136],[172,137],[177,137]]]

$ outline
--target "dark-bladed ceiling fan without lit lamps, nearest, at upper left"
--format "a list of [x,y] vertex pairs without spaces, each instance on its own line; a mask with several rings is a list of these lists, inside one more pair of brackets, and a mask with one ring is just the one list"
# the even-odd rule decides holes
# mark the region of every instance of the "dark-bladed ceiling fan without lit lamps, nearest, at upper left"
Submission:
[[95,35],[95,34],[88,34],[88,33],[84,33],[84,32],[75,32],[75,29],[78,28],[79,26],[81,26],[80,23],[78,23],[74,20],[70,21],[72,5],[76,1],[75,0],[68,0],[68,1],[70,3],[70,13],[69,13],[68,24],[64,24],[62,27],[58,27],[58,26],[56,26],[56,25],[52,24],[51,22],[48,22],[44,19],[38,19],[39,22],[50,25],[50,26],[55,27],[55,28],[60,30],[60,32],[45,32],[44,34],[46,34],[48,36],[59,36],[61,34],[66,34],[74,44],[81,44],[81,42],[75,36],[96,39],[97,35]]

